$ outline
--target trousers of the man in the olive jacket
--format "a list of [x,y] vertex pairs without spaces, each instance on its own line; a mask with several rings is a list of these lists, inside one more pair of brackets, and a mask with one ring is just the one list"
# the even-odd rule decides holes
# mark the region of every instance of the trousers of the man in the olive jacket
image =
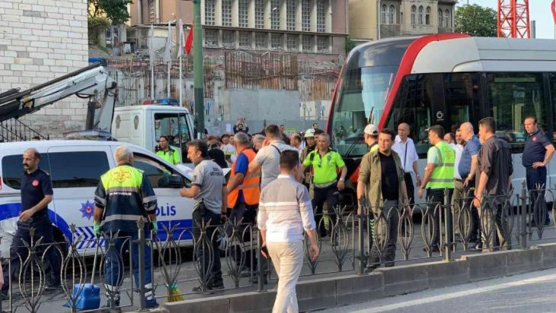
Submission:
[[[371,265],[385,262],[385,266],[393,266],[396,259],[396,243],[398,242],[398,223],[400,220],[398,200],[385,200],[381,208],[383,218],[375,217],[375,238],[371,247]],[[379,249],[384,249],[379,251]],[[382,257],[380,257],[382,252]]]

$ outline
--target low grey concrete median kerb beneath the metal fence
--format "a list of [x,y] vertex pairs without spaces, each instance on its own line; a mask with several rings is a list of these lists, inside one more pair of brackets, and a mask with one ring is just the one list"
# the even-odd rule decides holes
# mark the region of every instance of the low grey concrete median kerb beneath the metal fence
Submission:
[[[465,255],[451,262],[379,268],[367,275],[301,281],[297,299],[300,311],[319,310],[552,267],[556,267],[556,244],[534,245],[527,250]],[[204,297],[164,304],[155,312],[271,312],[275,297],[275,290]]]

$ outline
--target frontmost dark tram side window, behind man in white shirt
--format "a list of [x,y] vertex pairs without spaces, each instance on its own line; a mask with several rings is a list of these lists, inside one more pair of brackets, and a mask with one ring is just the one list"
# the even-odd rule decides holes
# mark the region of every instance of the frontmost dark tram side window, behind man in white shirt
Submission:
[[411,128],[410,137],[420,158],[426,157],[429,150],[431,126],[431,105],[433,102],[433,81],[430,75],[410,75],[404,78],[400,92],[396,96],[388,127],[396,130],[404,122]]

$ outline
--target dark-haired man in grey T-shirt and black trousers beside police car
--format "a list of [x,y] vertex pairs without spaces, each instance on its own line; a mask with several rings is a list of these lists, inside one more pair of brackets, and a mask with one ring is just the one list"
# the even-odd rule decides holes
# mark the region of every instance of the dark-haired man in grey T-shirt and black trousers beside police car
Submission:
[[[191,188],[182,188],[180,195],[182,197],[195,199],[193,207],[193,238],[197,242],[201,237],[201,226],[203,222],[209,225],[204,230],[207,238],[212,241],[212,249],[197,249],[196,257],[201,258],[203,273],[209,275],[207,280],[207,289],[224,289],[224,281],[222,280],[222,271],[220,269],[220,254],[217,237],[214,235],[216,226],[221,220],[225,220],[227,211],[227,188],[226,178],[222,172],[222,168],[214,161],[209,160],[209,151],[205,142],[193,140],[187,143],[187,158],[195,164],[193,170],[193,180]],[[212,256],[211,256],[212,254]],[[212,262],[210,261],[212,260]],[[212,268],[209,265],[212,263]],[[203,291],[202,286],[194,287],[193,291]]]

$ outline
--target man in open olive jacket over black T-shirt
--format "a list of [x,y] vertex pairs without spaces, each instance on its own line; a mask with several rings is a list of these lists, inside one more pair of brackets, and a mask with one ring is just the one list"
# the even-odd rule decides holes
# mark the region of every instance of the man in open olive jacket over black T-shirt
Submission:
[[[357,198],[366,198],[375,215],[375,244],[371,249],[371,267],[378,267],[381,261],[386,267],[394,266],[399,216],[403,213],[403,205],[409,203],[400,157],[392,150],[394,138],[393,131],[380,131],[378,151],[366,153],[361,160]],[[381,214],[384,218],[380,217]],[[381,246],[384,246],[382,260],[378,251]]]

